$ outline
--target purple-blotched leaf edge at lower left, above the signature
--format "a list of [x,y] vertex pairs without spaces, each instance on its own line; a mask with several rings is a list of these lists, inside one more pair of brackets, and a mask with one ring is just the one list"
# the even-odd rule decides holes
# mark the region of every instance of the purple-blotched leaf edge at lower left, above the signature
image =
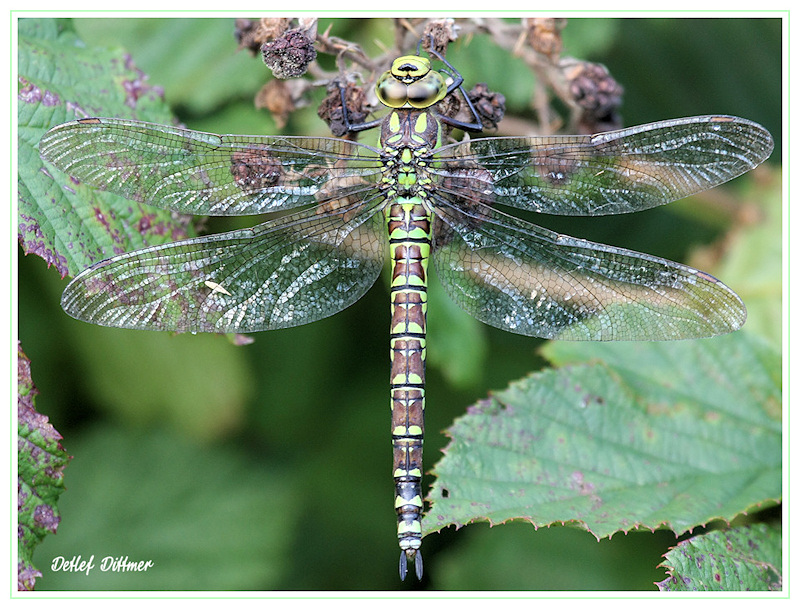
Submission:
[[33,551],[61,521],[56,502],[64,491],[63,471],[71,457],[47,417],[36,412],[38,391],[31,378],[31,362],[17,344],[17,513],[19,563],[17,589],[33,590],[42,573],[33,565]]

